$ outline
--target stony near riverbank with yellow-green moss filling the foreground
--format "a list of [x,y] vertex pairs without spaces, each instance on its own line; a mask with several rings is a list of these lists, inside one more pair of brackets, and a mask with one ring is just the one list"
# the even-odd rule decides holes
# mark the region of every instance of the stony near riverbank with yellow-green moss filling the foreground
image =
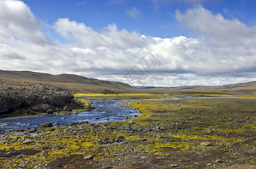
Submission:
[[123,122],[0,140],[2,168],[255,168],[254,97],[132,101]]

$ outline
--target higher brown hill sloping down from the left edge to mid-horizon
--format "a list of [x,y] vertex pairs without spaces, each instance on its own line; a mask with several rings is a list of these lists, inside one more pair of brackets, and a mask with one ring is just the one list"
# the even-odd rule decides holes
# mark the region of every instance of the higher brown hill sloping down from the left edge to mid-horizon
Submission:
[[[6,71],[0,70],[0,84],[10,86],[28,86],[34,84],[45,84],[56,88],[63,88],[70,92],[97,92],[97,93],[118,93],[121,87],[118,82],[101,81],[94,78],[86,78],[74,74],[52,75],[47,73],[36,73],[29,71]],[[134,88],[124,84],[126,88]],[[134,88],[135,89],[135,88]],[[122,90],[128,91],[124,88]]]

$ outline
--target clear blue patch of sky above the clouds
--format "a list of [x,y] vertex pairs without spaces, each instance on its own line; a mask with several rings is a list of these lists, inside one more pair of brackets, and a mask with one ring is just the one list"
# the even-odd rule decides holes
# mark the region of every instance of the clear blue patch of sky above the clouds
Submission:
[[[85,23],[95,30],[115,23],[118,29],[152,37],[171,38],[184,35],[194,37],[193,32],[182,28],[173,17],[176,10],[203,5],[214,14],[220,13],[227,19],[238,19],[247,25],[255,25],[254,1],[62,1],[28,0],[25,2],[33,14],[47,24],[54,24],[59,18],[69,17]],[[138,10],[138,13],[133,11]],[[129,11],[131,13],[129,13]],[[132,15],[134,14],[134,15]]]

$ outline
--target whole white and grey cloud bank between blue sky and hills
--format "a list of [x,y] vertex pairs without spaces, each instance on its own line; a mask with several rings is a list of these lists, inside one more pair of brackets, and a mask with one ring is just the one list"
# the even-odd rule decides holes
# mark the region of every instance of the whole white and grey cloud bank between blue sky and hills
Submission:
[[[198,37],[156,38],[118,29],[96,31],[84,23],[61,18],[53,27],[69,44],[50,41],[25,3],[0,1],[0,68],[130,83],[129,73],[143,77],[133,85],[214,85],[255,80],[255,26],[225,19],[202,6],[176,11],[183,26]],[[160,62],[145,70],[139,61],[148,52]],[[147,59],[147,58],[146,58]],[[148,61],[148,60],[147,60]],[[148,61],[149,62],[149,61]],[[128,74],[128,75],[127,75]],[[135,77],[138,74],[135,74]]]

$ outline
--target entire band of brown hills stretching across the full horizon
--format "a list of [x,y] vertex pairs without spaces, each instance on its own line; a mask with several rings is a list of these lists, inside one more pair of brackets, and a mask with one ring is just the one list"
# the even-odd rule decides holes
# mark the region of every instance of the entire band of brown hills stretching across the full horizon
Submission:
[[74,74],[52,75],[29,71],[0,70],[0,84],[10,86],[28,86],[45,84],[62,88],[72,93],[154,93],[154,94],[223,94],[223,95],[256,95],[256,81],[227,84],[223,86],[180,86],[180,87],[132,87],[129,84],[113,81],[102,81]]

